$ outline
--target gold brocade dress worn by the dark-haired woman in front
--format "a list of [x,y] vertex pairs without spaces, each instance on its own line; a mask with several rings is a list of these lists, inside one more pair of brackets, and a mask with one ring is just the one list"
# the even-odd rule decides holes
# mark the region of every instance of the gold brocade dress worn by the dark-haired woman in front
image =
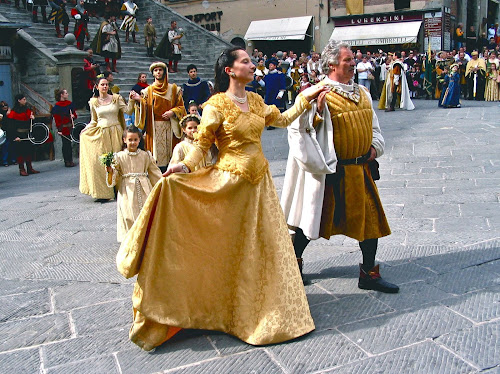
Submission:
[[314,329],[295,253],[260,137],[288,126],[306,107],[284,113],[247,93],[242,112],[225,94],[205,104],[192,170],[212,143],[214,166],[161,179],[117,254],[136,274],[130,339],[145,350],[179,328],[223,331],[254,345]]

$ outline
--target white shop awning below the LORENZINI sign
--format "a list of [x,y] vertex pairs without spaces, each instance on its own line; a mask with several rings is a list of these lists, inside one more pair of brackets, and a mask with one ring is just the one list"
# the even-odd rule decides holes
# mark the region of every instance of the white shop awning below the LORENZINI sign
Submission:
[[416,43],[422,21],[335,27],[330,39],[350,46]]

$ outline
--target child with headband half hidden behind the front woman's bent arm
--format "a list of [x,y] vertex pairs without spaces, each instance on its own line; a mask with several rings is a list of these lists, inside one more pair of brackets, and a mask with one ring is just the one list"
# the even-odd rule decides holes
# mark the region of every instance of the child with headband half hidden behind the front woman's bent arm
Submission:
[[[182,128],[183,140],[177,144],[172,151],[172,158],[170,159],[170,165],[175,165],[184,160],[186,155],[189,153],[193,147],[194,134],[198,131],[198,125],[200,124],[200,117],[196,114],[188,114],[181,119],[180,125]],[[205,166],[211,166],[217,161],[217,147],[212,145],[208,150],[205,158],[203,158],[200,163],[194,168],[193,171],[201,169]]]

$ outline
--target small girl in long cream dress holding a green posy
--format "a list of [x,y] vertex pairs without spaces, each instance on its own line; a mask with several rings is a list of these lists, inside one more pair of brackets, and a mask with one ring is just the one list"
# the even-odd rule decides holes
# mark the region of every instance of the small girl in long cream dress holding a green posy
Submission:
[[113,165],[106,167],[108,187],[117,186],[116,237],[121,242],[134,224],[161,171],[149,151],[139,149],[141,131],[128,127],[123,133],[127,148],[114,156]]

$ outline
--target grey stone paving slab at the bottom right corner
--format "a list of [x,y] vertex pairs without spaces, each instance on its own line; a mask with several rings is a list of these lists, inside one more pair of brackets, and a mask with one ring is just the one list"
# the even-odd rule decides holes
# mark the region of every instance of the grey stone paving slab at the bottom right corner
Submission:
[[473,362],[481,369],[489,369],[500,362],[500,321],[446,334],[437,342]]

